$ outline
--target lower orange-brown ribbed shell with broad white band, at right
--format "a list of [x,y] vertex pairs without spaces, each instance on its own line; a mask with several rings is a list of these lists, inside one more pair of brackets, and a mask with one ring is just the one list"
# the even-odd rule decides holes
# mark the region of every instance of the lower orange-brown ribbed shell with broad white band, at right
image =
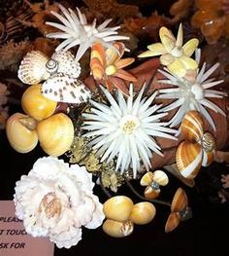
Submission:
[[201,145],[182,141],[176,152],[176,163],[180,174],[187,179],[194,179],[202,165]]

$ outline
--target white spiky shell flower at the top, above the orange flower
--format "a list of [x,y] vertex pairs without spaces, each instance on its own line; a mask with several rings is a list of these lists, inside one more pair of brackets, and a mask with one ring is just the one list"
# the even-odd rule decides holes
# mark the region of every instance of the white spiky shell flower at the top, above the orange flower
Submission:
[[100,42],[104,47],[111,48],[116,40],[128,40],[126,36],[118,36],[116,30],[120,26],[107,27],[112,19],[105,20],[102,24],[96,27],[96,19],[92,24],[88,24],[85,16],[77,8],[78,16],[70,8],[67,10],[59,5],[64,16],[61,16],[53,11],[51,14],[58,18],[63,24],[56,22],[46,22],[47,24],[60,29],[62,32],[49,33],[49,38],[65,39],[57,48],[56,51],[68,49],[78,46],[76,61],[79,61],[82,55],[90,48],[93,43]]

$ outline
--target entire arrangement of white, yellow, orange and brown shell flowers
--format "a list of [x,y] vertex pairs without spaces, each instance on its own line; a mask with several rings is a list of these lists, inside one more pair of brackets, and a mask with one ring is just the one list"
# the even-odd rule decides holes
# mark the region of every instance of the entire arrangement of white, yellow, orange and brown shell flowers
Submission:
[[[59,10],[51,11],[59,23],[47,22],[59,31],[47,36],[63,42],[51,56],[27,53],[17,71],[28,87],[21,97],[23,113],[7,121],[9,143],[22,154],[39,144],[47,156],[16,182],[16,216],[28,234],[48,237],[59,248],[78,244],[82,227],[102,227],[115,238],[130,236],[136,225],[153,220],[156,204],[171,210],[165,232],[173,231],[190,217],[187,196],[180,187],[171,202],[160,199],[170,174],[153,161],[163,161],[165,145],[174,143],[176,158],[166,165],[174,164],[181,180],[194,180],[202,165],[213,162],[213,113],[226,113],[212,99],[227,96],[212,90],[223,82],[211,77],[217,64],[207,71],[206,63],[200,67],[198,40],[183,45],[181,24],[177,39],[161,27],[161,43],[138,57],[161,55],[164,68],[156,71],[163,78],[156,81],[159,89],[154,88],[156,76],[139,89],[138,76],[126,70],[135,58],[125,57],[128,38],[117,34],[118,26],[109,27],[110,19],[89,24],[79,9],[75,13],[59,5]],[[81,77],[86,52],[94,87]],[[148,87],[154,90],[148,93]],[[163,99],[172,102],[158,103]],[[142,194],[132,181],[139,182]],[[118,193],[124,185],[139,201]],[[94,186],[101,186],[109,199],[100,201]]]

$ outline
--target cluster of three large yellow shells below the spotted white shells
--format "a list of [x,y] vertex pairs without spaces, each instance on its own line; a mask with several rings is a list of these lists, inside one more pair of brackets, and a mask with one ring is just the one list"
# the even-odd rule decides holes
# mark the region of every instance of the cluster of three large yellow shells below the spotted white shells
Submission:
[[50,156],[69,150],[74,139],[72,120],[64,113],[55,113],[57,102],[43,96],[40,84],[23,92],[21,106],[25,114],[15,113],[6,126],[8,140],[17,152],[32,151],[38,141]]

